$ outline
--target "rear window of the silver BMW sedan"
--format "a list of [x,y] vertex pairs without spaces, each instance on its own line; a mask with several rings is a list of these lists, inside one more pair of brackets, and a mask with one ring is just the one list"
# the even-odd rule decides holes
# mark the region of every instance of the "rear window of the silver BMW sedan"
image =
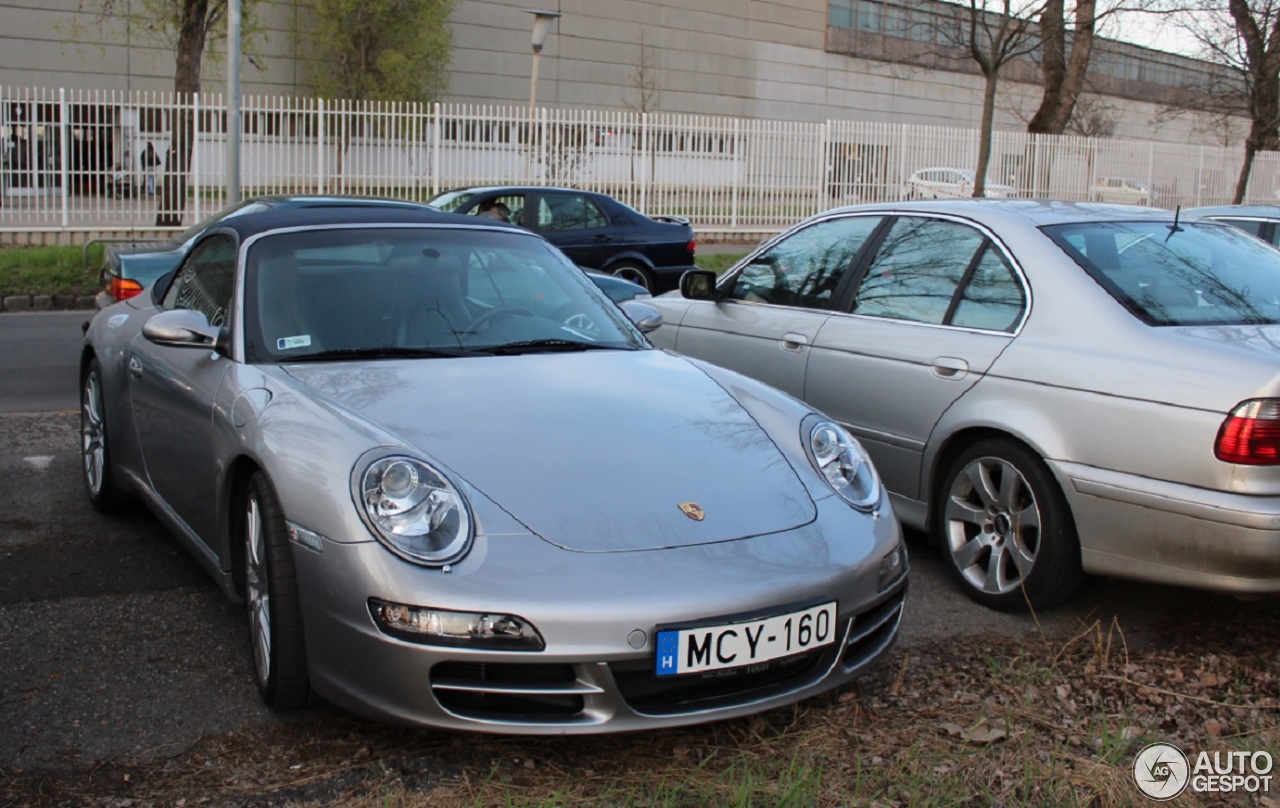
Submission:
[[1280,251],[1235,228],[1093,222],[1044,232],[1151,325],[1280,323]]

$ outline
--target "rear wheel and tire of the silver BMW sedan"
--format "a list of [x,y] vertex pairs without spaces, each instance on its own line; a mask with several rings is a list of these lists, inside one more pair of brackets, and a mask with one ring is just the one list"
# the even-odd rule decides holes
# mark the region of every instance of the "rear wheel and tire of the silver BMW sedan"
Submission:
[[1004,438],[947,467],[934,531],[965,593],[992,608],[1047,608],[1080,584],[1080,544],[1061,489],[1039,457]]

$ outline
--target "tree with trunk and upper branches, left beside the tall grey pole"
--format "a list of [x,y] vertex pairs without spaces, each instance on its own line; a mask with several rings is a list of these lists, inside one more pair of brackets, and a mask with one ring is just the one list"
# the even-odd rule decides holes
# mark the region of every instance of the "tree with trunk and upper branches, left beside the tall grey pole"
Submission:
[[[242,31],[256,31],[257,0],[241,0]],[[119,23],[141,32],[174,55],[173,90],[179,110],[172,120],[172,142],[165,155],[164,182],[156,205],[156,227],[180,227],[187,207],[187,177],[195,147],[195,111],[189,102],[200,92],[201,65],[210,41],[227,33],[227,0],[79,0],[79,12],[102,23]],[[228,132],[228,137],[237,133]]]

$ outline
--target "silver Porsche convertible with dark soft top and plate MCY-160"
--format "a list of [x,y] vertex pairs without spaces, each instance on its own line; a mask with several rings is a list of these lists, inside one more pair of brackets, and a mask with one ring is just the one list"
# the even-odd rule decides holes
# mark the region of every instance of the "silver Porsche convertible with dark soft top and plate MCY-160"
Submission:
[[88,327],[88,498],[141,499],[246,602],[278,708],[576,734],[847,683],[906,593],[874,467],[813,407],[654,350],[659,323],[509,224],[224,219]]

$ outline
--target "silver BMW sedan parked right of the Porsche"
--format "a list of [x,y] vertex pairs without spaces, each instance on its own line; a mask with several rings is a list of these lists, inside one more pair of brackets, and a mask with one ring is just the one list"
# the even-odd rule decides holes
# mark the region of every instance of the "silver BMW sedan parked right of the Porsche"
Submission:
[[977,601],[1280,593],[1280,252],[1149,207],[838,209],[654,300],[657,344],[831,414]]

